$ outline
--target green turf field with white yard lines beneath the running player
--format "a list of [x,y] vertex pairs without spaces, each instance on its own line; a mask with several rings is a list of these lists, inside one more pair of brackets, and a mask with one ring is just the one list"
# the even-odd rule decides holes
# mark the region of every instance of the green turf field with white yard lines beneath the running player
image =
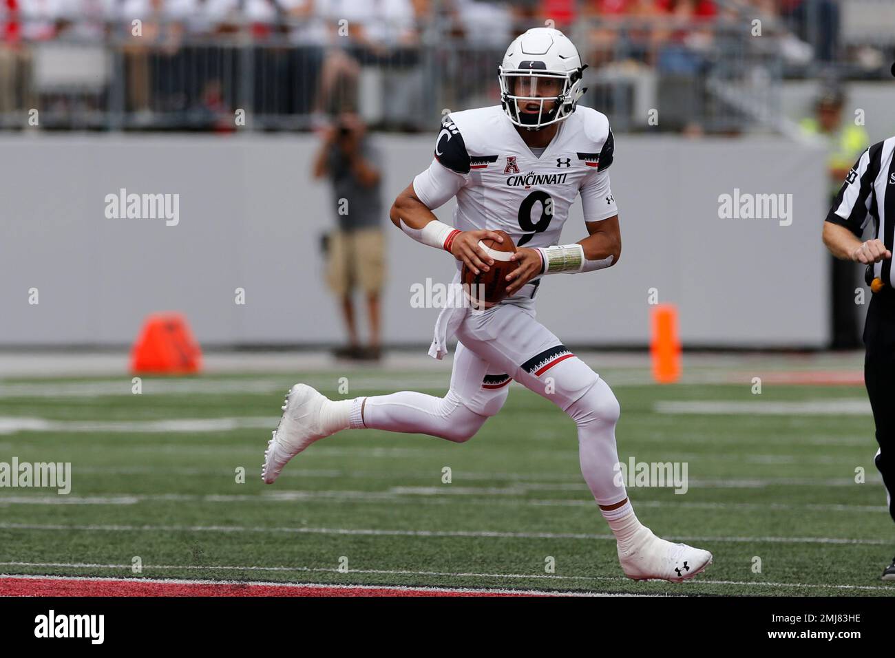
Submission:
[[[703,575],[678,585],[622,576],[579,472],[574,423],[516,385],[468,443],[341,432],[296,457],[274,485],[260,482],[294,381],[329,397],[442,395],[448,369],[340,372],[348,396],[326,372],[145,379],[140,395],[129,377],[0,381],[0,461],[72,463],[68,496],[0,489],[0,573],[131,577],[139,557],[146,577],[895,593],[879,579],[895,526],[857,386],[765,384],[753,395],[748,380],[657,387],[604,373],[622,407],[621,459],[686,462],[686,494],[629,489],[656,534],[714,553]],[[859,466],[865,483],[855,482]],[[451,483],[442,482],[445,467]]]

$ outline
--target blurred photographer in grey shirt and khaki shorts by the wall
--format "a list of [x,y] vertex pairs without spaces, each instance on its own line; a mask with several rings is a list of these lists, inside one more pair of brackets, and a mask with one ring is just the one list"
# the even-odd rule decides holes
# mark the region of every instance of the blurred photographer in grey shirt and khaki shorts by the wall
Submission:
[[[328,283],[339,297],[348,345],[337,356],[379,359],[379,297],[385,278],[385,238],[379,157],[357,115],[343,113],[328,127],[314,164],[315,178],[332,184],[337,230],[328,235]],[[370,341],[364,348],[354,321],[354,288],[367,298]]]

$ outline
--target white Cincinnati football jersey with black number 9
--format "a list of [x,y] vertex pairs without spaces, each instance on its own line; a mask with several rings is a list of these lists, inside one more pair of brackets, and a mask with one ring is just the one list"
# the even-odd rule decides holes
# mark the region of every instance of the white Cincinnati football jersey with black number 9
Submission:
[[435,159],[413,190],[430,209],[456,195],[462,231],[499,229],[516,246],[546,247],[558,244],[579,192],[585,221],[618,214],[607,172],[613,150],[609,120],[591,107],[576,107],[540,158],[500,106],[480,107],[444,118]]

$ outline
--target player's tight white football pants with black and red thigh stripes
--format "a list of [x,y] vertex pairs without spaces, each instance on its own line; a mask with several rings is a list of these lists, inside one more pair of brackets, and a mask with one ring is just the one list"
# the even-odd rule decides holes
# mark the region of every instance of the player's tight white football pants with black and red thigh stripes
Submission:
[[460,342],[445,397],[415,391],[367,397],[363,425],[469,440],[499,412],[510,380],[516,380],[577,424],[581,471],[597,502],[611,506],[625,500],[624,485],[615,482],[618,400],[596,372],[535,320],[533,308],[503,303],[468,313],[456,338]]

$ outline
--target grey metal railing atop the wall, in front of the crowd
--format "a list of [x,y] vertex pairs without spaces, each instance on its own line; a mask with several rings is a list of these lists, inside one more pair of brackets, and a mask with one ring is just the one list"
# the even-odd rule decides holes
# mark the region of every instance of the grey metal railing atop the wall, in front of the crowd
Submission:
[[[234,22],[201,33],[156,21],[134,36],[130,21],[94,22],[85,36],[75,21],[55,38],[24,38],[0,47],[0,128],[309,130],[351,109],[374,128],[422,131],[444,108],[499,103],[506,46],[494,39],[459,38],[437,20],[400,45],[362,42],[351,30],[340,37],[336,25],[314,39],[310,24]],[[767,21],[762,38],[752,28],[746,14],[578,21],[569,36],[591,64],[582,102],[619,132],[776,130],[788,32],[780,21]]]

